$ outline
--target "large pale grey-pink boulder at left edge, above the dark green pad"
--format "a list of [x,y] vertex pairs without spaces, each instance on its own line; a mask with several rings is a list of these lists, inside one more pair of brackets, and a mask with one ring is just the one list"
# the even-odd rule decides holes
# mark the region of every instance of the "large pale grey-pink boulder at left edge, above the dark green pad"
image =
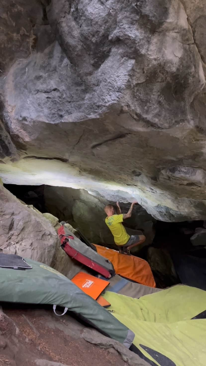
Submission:
[[[38,211],[38,210],[37,210]],[[52,224],[0,185],[0,249],[51,265],[60,245]]]

